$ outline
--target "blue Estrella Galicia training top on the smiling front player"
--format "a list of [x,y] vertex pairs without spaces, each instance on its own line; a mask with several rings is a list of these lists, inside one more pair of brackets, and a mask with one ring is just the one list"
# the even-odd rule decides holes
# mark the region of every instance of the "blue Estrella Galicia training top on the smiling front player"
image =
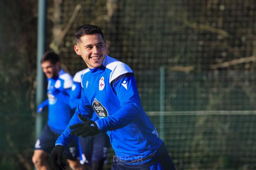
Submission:
[[145,114],[133,71],[109,56],[99,68],[86,69],[82,78],[81,100],[66,130],[55,145],[67,146],[74,138],[69,126],[82,121],[78,114],[95,121],[100,133],[107,133],[121,160],[138,160],[156,153],[163,141]]

